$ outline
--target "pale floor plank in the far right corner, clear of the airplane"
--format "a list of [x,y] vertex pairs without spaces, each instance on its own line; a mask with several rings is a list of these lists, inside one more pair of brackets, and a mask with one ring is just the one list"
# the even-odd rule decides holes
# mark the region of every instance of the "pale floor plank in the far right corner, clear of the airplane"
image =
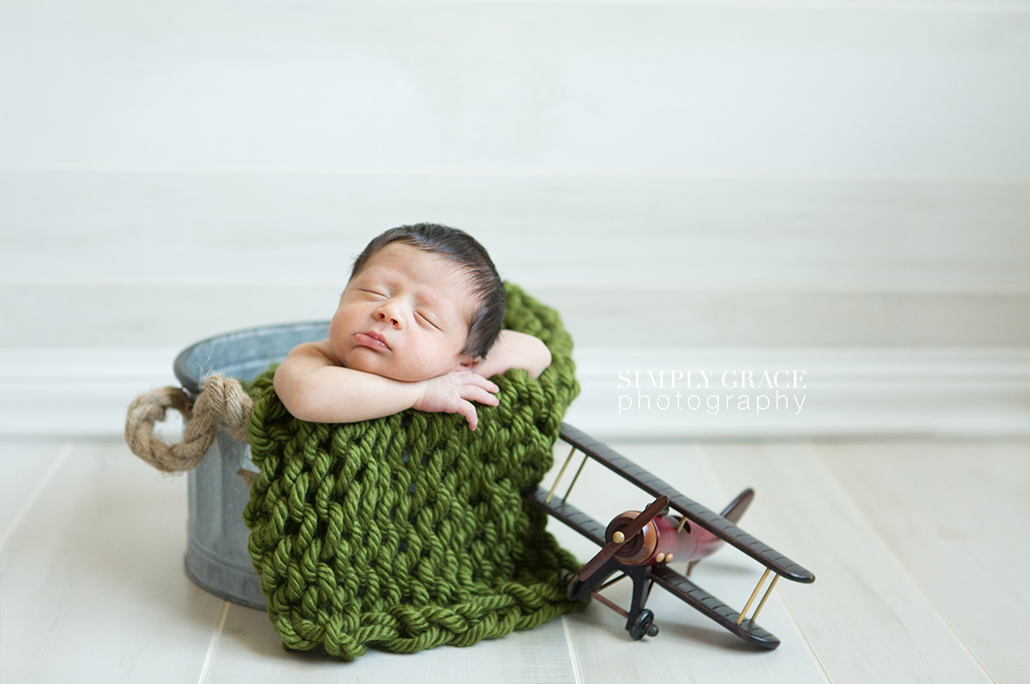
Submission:
[[815,448],[991,677],[1030,681],[1030,443]]

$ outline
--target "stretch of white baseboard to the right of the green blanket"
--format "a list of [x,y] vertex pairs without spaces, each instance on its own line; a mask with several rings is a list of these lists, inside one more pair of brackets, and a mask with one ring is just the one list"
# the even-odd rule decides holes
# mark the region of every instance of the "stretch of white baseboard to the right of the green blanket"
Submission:
[[[609,439],[1030,435],[1025,348],[586,349],[578,358],[583,390],[566,419]],[[753,386],[742,389],[745,372]]]

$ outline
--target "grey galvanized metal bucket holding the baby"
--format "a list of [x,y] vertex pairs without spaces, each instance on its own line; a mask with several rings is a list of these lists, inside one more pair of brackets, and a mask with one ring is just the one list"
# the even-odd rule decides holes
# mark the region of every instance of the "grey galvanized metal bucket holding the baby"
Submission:
[[[329,321],[253,328],[198,342],[175,358],[175,377],[196,401],[209,375],[252,380],[295,346],[325,339]],[[249,486],[239,470],[256,471],[250,445],[233,439],[225,423],[201,464],[190,471],[186,575],[201,588],[241,606],[265,610],[261,581],[247,553],[243,507]]]

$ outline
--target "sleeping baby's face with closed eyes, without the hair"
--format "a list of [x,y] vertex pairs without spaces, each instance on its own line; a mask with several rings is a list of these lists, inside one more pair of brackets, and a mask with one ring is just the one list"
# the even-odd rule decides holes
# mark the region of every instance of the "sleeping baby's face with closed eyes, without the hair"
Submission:
[[347,283],[330,323],[330,345],[347,368],[427,380],[469,361],[460,351],[475,305],[452,261],[391,242]]

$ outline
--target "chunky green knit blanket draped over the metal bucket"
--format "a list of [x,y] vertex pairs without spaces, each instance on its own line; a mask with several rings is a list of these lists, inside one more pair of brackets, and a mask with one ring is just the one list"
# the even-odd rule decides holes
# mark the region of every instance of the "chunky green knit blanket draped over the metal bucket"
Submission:
[[251,385],[249,439],[261,475],[243,517],[268,612],[287,649],[350,660],[369,646],[469,646],[582,608],[564,595],[576,559],[530,505],[579,392],[557,313],[507,284],[505,328],[551,350],[539,380],[494,377],[500,405],[402,413],[356,423],[294,418]]

